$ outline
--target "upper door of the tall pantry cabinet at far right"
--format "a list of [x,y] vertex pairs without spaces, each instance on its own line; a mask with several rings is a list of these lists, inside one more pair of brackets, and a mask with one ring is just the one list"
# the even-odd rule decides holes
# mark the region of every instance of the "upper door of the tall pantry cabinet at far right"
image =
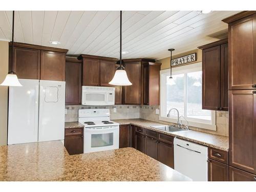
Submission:
[[229,89],[255,89],[256,84],[256,14],[230,23]]

